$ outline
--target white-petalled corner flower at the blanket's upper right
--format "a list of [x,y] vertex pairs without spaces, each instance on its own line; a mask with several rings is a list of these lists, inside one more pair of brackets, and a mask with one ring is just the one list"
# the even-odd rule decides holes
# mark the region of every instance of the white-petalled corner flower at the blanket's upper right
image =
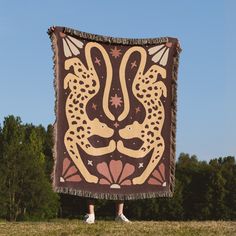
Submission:
[[168,61],[169,51],[172,43],[161,44],[148,49],[149,55],[153,55],[152,61],[155,63],[160,63],[160,65],[165,66]]

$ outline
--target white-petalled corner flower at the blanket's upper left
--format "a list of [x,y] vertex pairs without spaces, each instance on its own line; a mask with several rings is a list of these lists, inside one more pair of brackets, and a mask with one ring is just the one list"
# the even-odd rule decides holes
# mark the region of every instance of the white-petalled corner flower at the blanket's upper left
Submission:
[[69,35],[60,32],[60,36],[63,42],[63,50],[66,57],[71,57],[72,55],[77,56],[80,54],[79,48],[83,48],[83,43]]

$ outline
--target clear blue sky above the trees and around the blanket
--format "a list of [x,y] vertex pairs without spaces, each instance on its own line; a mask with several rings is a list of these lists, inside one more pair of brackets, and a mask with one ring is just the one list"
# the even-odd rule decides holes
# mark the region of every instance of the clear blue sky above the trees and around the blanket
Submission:
[[114,37],[180,40],[177,156],[236,156],[236,1],[1,1],[0,123],[54,122],[52,50],[60,25]]

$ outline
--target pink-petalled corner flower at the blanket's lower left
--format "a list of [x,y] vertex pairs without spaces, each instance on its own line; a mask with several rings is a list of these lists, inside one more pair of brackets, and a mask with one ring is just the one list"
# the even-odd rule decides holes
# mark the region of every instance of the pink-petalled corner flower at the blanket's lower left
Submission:
[[60,182],[80,182],[81,177],[78,175],[78,170],[75,166],[71,166],[71,161],[69,158],[65,158],[63,161],[62,176],[60,177]]

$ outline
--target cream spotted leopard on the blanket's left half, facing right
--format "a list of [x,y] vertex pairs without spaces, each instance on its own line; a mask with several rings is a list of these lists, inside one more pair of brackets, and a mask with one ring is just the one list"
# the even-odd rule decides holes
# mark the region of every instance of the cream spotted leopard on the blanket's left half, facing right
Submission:
[[85,58],[87,67],[79,58],[71,58],[65,61],[65,69],[73,68],[74,73],[68,73],[64,79],[64,89],[69,87],[70,94],[66,100],[66,117],[69,129],[64,136],[64,143],[70,157],[89,183],[97,183],[98,178],[89,173],[85,167],[78,146],[82,148],[88,155],[101,156],[113,152],[116,149],[114,140],[110,140],[106,147],[93,147],[88,138],[91,135],[99,135],[104,138],[110,138],[114,134],[114,130],[95,118],[90,120],[86,113],[86,106],[89,100],[94,97],[99,89],[99,78],[91,59],[91,49],[95,47],[100,50],[106,64],[106,88],[103,98],[103,109],[105,114],[111,119],[114,116],[108,109],[108,95],[112,80],[112,66],[109,56],[105,49],[98,43],[90,42],[85,46]]

